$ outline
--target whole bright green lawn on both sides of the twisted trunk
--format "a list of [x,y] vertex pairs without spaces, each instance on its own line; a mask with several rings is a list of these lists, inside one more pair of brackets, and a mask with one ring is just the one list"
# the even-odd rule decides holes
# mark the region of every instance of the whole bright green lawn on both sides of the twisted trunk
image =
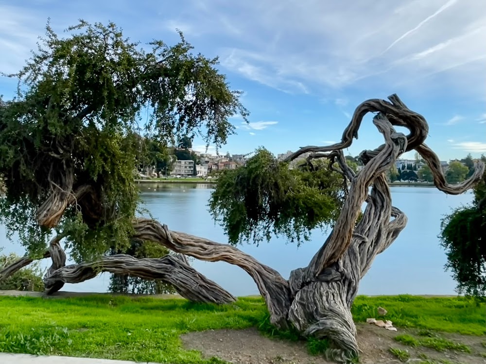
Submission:
[[[388,310],[398,327],[470,335],[486,334],[486,307],[463,298],[358,297],[357,321]],[[295,333],[268,325],[261,298],[232,305],[195,304],[183,299],[91,296],[42,299],[0,297],[0,351],[159,363],[221,363],[181,347],[179,335],[209,329],[259,327],[296,340]],[[310,341],[315,347],[315,341]]]

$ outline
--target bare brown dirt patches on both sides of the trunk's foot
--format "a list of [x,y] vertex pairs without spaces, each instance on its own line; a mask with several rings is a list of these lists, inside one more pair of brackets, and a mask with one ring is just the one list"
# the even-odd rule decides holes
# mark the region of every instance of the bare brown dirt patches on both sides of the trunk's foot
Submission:
[[[396,364],[401,363],[389,352],[390,347],[407,350],[409,363],[420,363],[421,358],[428,358],[431,363],[486,364],[481,356],[486,352],[483,346],[485,337],[467,335],[442,335],[456,342],[466,344],[472,353],[453,351],[437,352],[425,347],[406,347],[393,338],[399,334],[412,334],[416,331],[388,331],[372,325],[358,325],[358,344],[362,350],[361,364]],[[256,329],[217,330],[190,332],[181,336],[186,349],[201,351],[207,358],[217,357],[235,364],[330,364],[323,355],[309,354],[305,343],[295,343],[262,336]]]

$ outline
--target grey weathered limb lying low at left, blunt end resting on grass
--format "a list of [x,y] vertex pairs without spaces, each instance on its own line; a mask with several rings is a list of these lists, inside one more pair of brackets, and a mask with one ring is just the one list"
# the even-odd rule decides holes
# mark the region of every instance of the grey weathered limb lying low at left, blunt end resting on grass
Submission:
[[99,273],[129,274],[143,279],[156,279],[174,286],[184,298],[195,302],[230,303],[234,298],[217,283],[208,280],[179,256],[137,259],[131,255],[117,254],[95,262],[63,266],[44,278],[46,287],[64,283],[79,283],[96,277]]

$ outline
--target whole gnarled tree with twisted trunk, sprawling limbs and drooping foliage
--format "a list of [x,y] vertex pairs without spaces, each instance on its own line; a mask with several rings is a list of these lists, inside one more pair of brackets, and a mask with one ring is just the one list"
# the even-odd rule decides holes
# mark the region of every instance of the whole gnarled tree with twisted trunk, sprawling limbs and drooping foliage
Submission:
[[[81,22],[69,31],[69,38],[60,39],[47,27],[40,49],[16,75],[17,98],[0,104],[0,173],[6,186],[0,216],[20,232],[29,252],[1,271],[0,279],[34,258],[51,257],[44,280],[49,293],[65,282],[109,271],[160,279],[192,300],[225,303],[235,298],[195,272],[184,256],[224,261],[254,279],[274,325],[328,337],[339,354],[335,357],[346,361],[358,355],[350,307],[359,282],[406,225],[406,216],[392,206],[387,170],[402,153],[415,149],[429,165],[437,188],[448,194],[472,187],[484,172],[478,161],[467,181],[447,184],[437,156],[424,143],[426,120],[396,95],[359,105],[340,143],[299,149],[284,162],[260,150],[247,166],[220,177],[210,205],[230,243],[244,237],[259,241],[272,232],[300,240],[309,229],[332,224],[309,265],[285,280],[235,244],[136,218],[133,135],[144,108],[147,131],[162,140],[204,130],[208,142],[217,145],[232,132],[228,117],[247,115],[238,93],[215,70],[216,61],[191,55],[183,38],[174,47],[153,42],[147,52],[123,39],[113,24]],[[373,123],[384,144],[360,154],[364,166],[356,173],[342,150],[358,136],[369,112],[377,113]],[[394,126],[410,133],[398,133]],[[306,165],[289,169],[287,162],[305,153]],[[330,169],[313,162],[317,158],[328,159]],[[134,239],[179,255],[106,256]],[[65,265],[61,242],[79,264]]]

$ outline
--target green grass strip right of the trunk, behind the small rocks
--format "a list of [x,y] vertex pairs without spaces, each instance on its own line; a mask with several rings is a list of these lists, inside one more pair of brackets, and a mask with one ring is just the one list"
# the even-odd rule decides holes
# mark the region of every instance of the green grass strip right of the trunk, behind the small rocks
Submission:
[[400,328],[457,332],[466,335],[486,334],[486,305],[462,297],[424,298],[419,296],[358,296],[351,310],[355,321],[378,318],[377,308],[388,311],[386,319]]

